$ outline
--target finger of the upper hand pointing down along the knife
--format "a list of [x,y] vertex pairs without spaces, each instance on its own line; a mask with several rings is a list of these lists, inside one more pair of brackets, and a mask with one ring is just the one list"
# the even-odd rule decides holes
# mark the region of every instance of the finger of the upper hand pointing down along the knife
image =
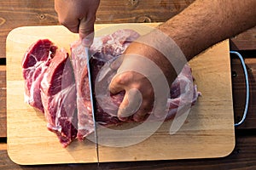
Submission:
[[85,47],[90,47],[94,38],[94,22],[96,17],[84,17],[79,23],[79,37]]

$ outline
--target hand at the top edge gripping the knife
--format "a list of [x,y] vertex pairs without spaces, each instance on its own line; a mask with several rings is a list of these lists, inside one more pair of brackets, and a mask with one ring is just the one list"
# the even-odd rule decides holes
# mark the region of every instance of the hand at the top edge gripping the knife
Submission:
[[90,46],[94,37],[96,10],[100,0],[55,0],[55,11],[61,25],[79,33],[84,46]]

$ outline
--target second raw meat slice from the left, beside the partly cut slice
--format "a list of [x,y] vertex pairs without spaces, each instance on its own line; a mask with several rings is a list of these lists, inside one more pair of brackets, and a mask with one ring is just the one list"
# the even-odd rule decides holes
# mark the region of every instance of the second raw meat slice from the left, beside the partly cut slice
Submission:
[[77,136],[78,118],[73,68],[65,49],[56,49],[40,89],[47,127],[66,147]]

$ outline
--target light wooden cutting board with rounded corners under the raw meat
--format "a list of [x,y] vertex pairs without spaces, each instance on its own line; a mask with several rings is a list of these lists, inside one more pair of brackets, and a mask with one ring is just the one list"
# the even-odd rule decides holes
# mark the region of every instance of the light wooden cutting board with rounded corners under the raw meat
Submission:
[[[145,26],[157,24],[96,25],[96,37],[123,28],[143,34],[148,31]],[[9,33],[6,54],[9,156],[12,161],[26,165],[96,162],[93,142],[74,141],[63,149],[55,133],[47,130],[44,115],[24,102],[21,59],[26,48],[40,38],[49,38],[59,47],[69,49],[69,44],[77,40],[78,35],[63,26],[20,27]],[[139,144],[127,147],[100,145],[101,162],[206,158],[230,154],[235,146],[235,133],[229,42],[224,41],[207,49],[189,64],[202,96],[177,133],[169,134],[172,124],[169,121]],[[124,127],[129,126],[131,124]],[[119,137],[108,135],[106,139],[115,141]]]

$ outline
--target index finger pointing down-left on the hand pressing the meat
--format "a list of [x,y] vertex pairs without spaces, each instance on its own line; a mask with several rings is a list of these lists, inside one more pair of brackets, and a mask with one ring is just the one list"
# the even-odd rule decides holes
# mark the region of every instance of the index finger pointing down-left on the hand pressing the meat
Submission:
[[137,88],[131,88],[125,92],[125,97],[119,105],[118,117],[119,119],[128,118],[137,112],[143,102],[143,95]]

